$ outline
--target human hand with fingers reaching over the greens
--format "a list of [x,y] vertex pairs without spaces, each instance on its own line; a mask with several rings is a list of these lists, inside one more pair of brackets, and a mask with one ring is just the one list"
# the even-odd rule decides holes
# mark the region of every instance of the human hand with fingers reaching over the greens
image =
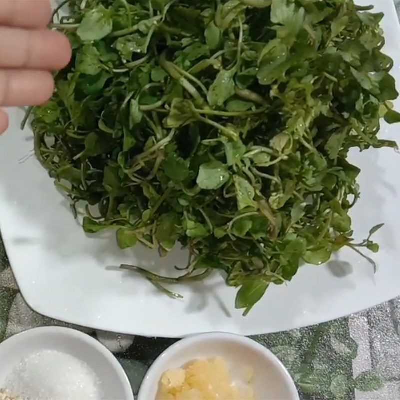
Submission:
[[[39,105],[51,97],[50,71],[69,62],[71,47],[46,27],[50,17],[49,0],[0,0],[0,107]],[[0,108],[0,134],[7,127]]]

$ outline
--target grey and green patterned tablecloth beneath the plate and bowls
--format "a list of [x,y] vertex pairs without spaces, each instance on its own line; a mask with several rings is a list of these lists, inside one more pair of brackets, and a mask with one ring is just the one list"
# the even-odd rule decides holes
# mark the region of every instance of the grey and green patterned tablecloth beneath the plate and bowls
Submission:
[[[400,14],[400,0],[395,3]],[[0,237],[0,342],[45,325],[65,326],[27,306]],[[175,341],[76,328],[96,337],[116,355],[135,395],[147,368]],[[253,339],[282,360],[302,400],[400,399],[400,297],[346,318]]]

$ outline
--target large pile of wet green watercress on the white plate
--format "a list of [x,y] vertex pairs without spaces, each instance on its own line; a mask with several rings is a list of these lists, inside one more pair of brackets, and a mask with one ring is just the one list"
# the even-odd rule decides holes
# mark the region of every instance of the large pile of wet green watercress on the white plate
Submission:
[[380,118],[400,120],[381,13],[352,0],[63,5],[53,26],[73,56],[33,110],[36,156],[87,204],[86,232],[190,251],[177,279],[124,268],[171,295],[163,282],[218,269],[246,313],[303,261],[378,250],[352,241],[359,169],[346,157],[396,147],[377,137]]

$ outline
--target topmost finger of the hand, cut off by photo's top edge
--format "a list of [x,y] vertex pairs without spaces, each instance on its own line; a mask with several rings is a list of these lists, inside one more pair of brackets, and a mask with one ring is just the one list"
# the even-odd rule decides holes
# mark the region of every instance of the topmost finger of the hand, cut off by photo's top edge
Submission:
[[49,0],[0,0],[0,25],[44,28],[50,17]]

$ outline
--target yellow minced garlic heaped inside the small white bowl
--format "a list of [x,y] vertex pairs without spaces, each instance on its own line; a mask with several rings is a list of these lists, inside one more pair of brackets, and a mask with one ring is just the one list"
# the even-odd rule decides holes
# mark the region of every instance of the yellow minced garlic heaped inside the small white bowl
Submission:
[[[248,385],[238,387],[231,381],[227,363],[221,357],[194,360],[186,367],[169,369],[162,374],[158,400],[252,400],[254,390],[247,370]],[[251,377],[250,377],[251,375]]]

